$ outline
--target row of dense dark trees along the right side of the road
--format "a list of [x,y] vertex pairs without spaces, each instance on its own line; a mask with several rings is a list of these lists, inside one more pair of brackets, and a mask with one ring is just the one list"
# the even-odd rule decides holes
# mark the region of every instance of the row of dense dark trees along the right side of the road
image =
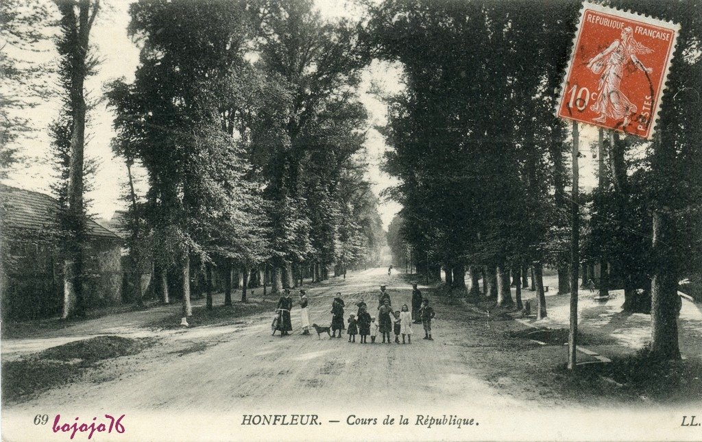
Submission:
[[[615,135],[600,143],[607,159],[600,187],[576,201],[581,255],[621,275],[626,307],[646,304],[638,289],[652,294],[652,348],[677,357],[677,281],[698,266],[702,250],[702,121],[684,111],[702,81],[700,22],[685,12],[699,5],[613,3],[680,22],[682,32],[654,140]],[[371,6],[368,38],[378,57],[402,62],[406,86],[385,98],[383,133],[392,147],[385,170],[399,179],[388,194],[403,205],[390,247],[396,255],[414,250],[418,268],[435,278],[440,265],[446,283],[462,290],[468,268],[469,297],[481,297],[482,276],[498,305],[515,302],[510,269],[518,281],[531,267],[538,318],[546,315],[544,265],[557,269],[559,292],[570,291],[572,138],[554,109],[579,8],[574,1]]]

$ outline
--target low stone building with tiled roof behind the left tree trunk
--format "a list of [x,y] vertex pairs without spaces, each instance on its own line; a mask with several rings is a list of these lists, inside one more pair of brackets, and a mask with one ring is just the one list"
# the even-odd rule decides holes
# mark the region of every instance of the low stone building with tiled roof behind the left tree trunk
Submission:
[[[59,315],[63,274],[55,219],[58,201],[39,192],[0,185],[0,297],[3,319]],[[122,239],[88,221],[84,295],[88,308],[122,302]]]

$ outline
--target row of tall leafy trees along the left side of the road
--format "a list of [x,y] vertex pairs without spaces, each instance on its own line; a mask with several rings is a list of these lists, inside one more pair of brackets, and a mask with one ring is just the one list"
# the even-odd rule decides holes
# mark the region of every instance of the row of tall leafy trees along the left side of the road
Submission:
[[[58,27],[64,107],[51,127],[62,206],[55,238],[70,316],[87,304],[84,194],[93,165],[84,159],[91,109],[85,81],[98,67],[90,36],[104,8],[98,0],[55,6],[29,5],[29,15],[4,19],[16,29]],[[140,62],[133,82],[106,88],[116,115],[114,152],[127,170],[129,271],[140,281],[153,267],[165,302],[173,289],[182,295],[184,316],[192,314],[191,280],[201,275],[211,282],[218,272],[230,303],[237,273],[246,278],[263,269],[275,292],[296,286],[305,272],[318,281],[331,267],[345,274],[378,259],[385,238],[378,199],[364,178],[368,124],[357,93],[370,53],[355,23],[323,20],[313,6],[145,0],[129,8]],[[7,142],[3,147],[9,165],[16,152]],[[145,170],[145,194],[138,192],[138,170]],[[134,286],[141,303],[141,284]]]

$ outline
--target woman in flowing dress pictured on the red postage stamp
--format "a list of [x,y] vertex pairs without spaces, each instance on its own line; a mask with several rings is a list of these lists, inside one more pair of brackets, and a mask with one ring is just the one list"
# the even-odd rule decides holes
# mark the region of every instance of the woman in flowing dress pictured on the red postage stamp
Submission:
[[597,83],[597,100],[590,106],[590,109],[599,112],[600,116],[592,121],[604,123],[609,117],[623,120],[623,128],[628,126],[631,116],[637,112],[637,107],[620,90],[624,67],[631,60],[637,68],[651,74],[653,69],[645,67],[636,58],[637,54],[651,52],[651,49],[634,39],[633,29],[625,27],[621,31],[621,40],[613,41],[607,49],[588,62],[588,69],[595,74],[602,74],[600,82]]

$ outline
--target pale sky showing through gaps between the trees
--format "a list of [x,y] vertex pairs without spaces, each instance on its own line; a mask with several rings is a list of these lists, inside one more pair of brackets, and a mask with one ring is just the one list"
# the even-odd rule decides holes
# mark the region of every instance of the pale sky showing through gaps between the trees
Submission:
[[[102,60],[99,72],[86,83],[88,96],[91,98],[100,98],[105,84],[114,79],[124,77],[126,81],[132,81],[134,78],[139,50],[126,33],[129,22],[127,12],[129,3],[130,1],[120,0],[103,1],[103,4],[107,4],[107,8],[98,15],[91,33],[91,41]],[[325,18],[357,15],[354,8],[344,1],[317,0],[316,3]],[[54,56],[55,52],[46,51],[38,55],[36,61],[48,62]],[[369,88],[373,84],[386,93],[397,93],[402,90],[401,73],[402,69],[399,65],[376,60],[366,68],[361,91],[359,91],[359,98],[368,109],[370,116],[371,128],[365,143],[366,158],[369,162],[367,178],[373,182],[373,192],[376,195],[386,187],[394,185],[396,181],[380,170],[383,153],[388,147],[373,126],[385,123],[385,105],[369,93]],[[13,171],[8,180],[5,180],[6,184],[49,193],[53,178],[48,159],[51,138],[47,127],[57,116],[59,107],[56,101],[46,102],[29,112],[27,117],[32,121],[35,136],[23,142],[22,145],[22,154],[27,158],[27,163],[25,167]],[[90,118],[86,156],[98,162],[98,171],[93,180],[93,189],[86,196],[91,200],[91,213],[97,218],[109,219],[115,210],[125,207],[120,195],[126,182],[126,168],[121,159],[112,154],[110,142],[114,137],[112,129],[114,115],[110,109],[107,109],[104,101],[99,102],[91,111]],[[596,138],[597,130],[594,127],[581,128],[581,151],[586,155],[585,159],[581,159],[581,186],[593,186],[596,183],[594,170],[597,167],[597,160],[592,159],[589,149],[589,143]],[[381,199],[379,211],[385,229],[400,208],[401,206],[394,201]]]

